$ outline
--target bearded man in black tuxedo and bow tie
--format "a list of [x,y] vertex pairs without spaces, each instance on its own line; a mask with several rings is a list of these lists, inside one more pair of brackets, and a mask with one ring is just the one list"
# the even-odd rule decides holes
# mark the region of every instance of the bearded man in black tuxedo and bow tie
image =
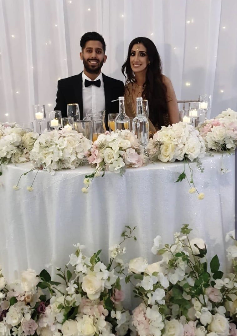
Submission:
[[79,75],[58,81],[54,110],[62,111],[62,117],[67,117],[67,104],[78,103],[80,119],[87,113],[106,110],[108,128],[108,114],[118,113],[118,97],[123,96],[123,82],[101,73],[107,59],[103,36],[96,32],[85,33],[80,46],[84,70]]

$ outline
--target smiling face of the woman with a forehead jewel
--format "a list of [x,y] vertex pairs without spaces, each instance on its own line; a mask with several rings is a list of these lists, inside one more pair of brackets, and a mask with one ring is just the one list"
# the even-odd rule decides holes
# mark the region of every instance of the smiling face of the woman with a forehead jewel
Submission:
[[142,44],[134,44],[130,52],[130,65],[134,74],[147,71],[150,63],[147,48]]

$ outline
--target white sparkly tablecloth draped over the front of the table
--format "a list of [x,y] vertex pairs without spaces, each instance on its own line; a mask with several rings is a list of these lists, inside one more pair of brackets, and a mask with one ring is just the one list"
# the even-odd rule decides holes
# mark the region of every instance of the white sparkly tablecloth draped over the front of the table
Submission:
[[34,191],[28,192],[35,172],[22,177],[22,189],[12,186],[30,163],[8,165],[0,177],[0,265],[5,277],[19,278],[28,267],[37,272],[47,268],[53,275],[55,266],[68,262],[77,242],[86,245],[86,254],[102,248],[106,263],[108,247],[120,242],[125,225],[137,226],[137,242],[126,244],[125,261],[137,256],[155,261],[151,247],[156,235],[171,243],[173,233],[189,223],[192,236],[204,238],[209,254],[218,253],[225,268],[225,234],[234,229],[234,155],[214,154],[202,162],[204,173],[195,163],[191,166],[203,200],[188,193],[186,180],[174,183],[182,162],[127,169],[122,177],[106,172],[94,178],[87,195],[81,188],[92,171],[89,166],[53,176],[39,171]]

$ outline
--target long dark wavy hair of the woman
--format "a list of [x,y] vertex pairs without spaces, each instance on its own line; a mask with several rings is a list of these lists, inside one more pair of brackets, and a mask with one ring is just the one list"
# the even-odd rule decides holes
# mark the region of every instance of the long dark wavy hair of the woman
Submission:
[[130,65],[130,54],[134,44],[142,43],[147,48],[147,54],[150,64],[147,67],[145,89],[142,93],[144,99],[149,104],[149,119],[153,125],[164,125],[164,115],[168,113],[167,88],[162,80],[162,63],[160,55],[155,44],[147,37],[137,37],[131,41],[128,47],[127,59],[122,66],[122,73],[126,77],[125,87],[128,90],[128,84],[134,83],[135,75]]

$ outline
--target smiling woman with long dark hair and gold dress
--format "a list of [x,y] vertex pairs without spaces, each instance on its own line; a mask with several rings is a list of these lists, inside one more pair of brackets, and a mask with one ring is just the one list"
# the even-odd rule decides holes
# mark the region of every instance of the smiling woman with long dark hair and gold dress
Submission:
[[162,74],[160,55],[150,39],[137,37],[131,41],[122,73],[126,77],[126,114],[130,118],[136,116],[136,97],[147,99],[150,136],[161,126],[179,122],[179,108],[172,83]]

